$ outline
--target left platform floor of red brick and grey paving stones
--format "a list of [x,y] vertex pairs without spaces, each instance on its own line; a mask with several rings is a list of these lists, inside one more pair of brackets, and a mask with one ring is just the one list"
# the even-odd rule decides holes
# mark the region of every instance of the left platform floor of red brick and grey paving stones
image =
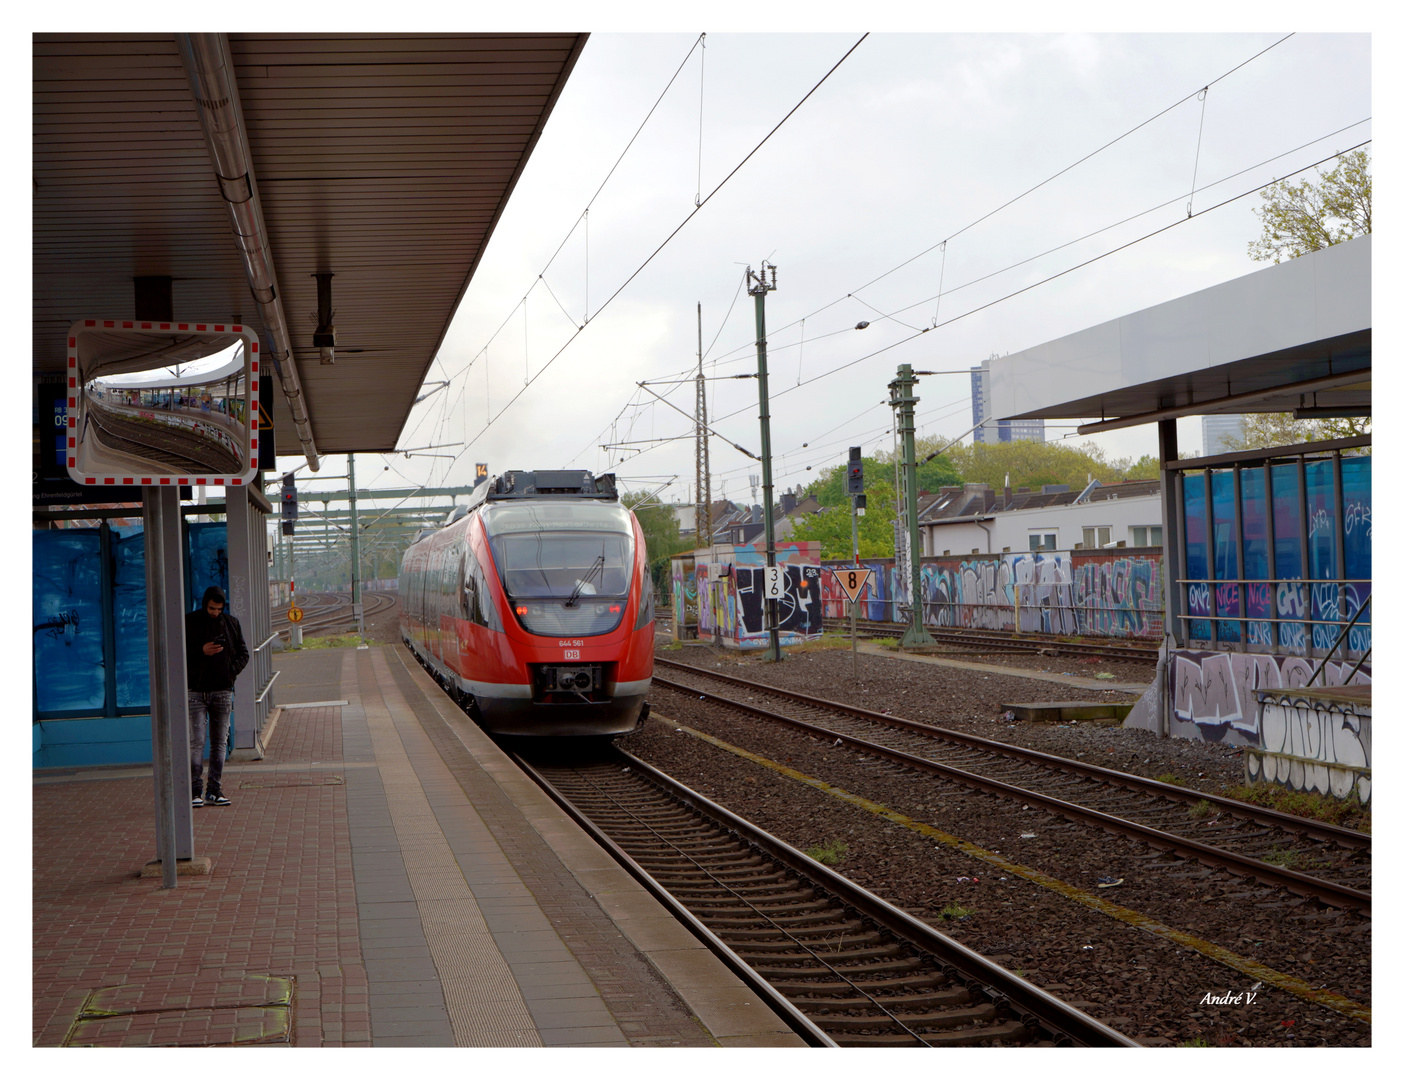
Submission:
[[802,1045],[403,647],[275,667],[209,875],[140,876],[149,768],[35,774],[34,1045]]

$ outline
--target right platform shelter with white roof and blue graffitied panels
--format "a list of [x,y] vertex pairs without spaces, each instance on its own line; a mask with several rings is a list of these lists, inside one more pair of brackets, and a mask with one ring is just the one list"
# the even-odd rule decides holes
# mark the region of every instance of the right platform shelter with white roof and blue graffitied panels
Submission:
[[[1157,433],[1164,638],[1154,684],[1126,723],[1241,746],[1250,782],[1363,802],[1372,437],[1338,426],[1212,456],[1198,456],[1195,438],[1212,414],[1369,417],[1372,368],[1369,235],[990,364],[997,420]],[[1075,577],[1075,553],[1073,563]],[[960,573],[959,588],[983,595],[1005,572]],[[1097,583],[1108,587],[1118,588]]]

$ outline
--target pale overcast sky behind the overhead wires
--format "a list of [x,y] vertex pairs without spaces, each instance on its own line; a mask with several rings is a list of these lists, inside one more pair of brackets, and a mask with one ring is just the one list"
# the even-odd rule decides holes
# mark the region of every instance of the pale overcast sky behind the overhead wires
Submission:
[[[1258,195],[1209,208],[1372,131],[1369,35],[1285,34],[879,32],[781,124],[859,32],[709,32],[705,49],[696,34],[597,32],[430,374],[452,382],[400,440],[449,456],[365,455],[358,482],[466,485],[482,461],[494,475],[614,470],[628,489],[677,478],[663,497],[685,501],[691,421],[636,383],[673,390],[691,416],[692,383],[668,379],[696,372],[701,303],[710,419],[758,451],[755,381],[724,376],[755,369],[754,301],[739,285],[767,258],[776,489],[848,445],[890,449],[899,364],[965,371],[1264,267],[1247,256]],[[1202,216],[1185,220],[1192,184]],[[918,395],[918,434],[972,426],[967,375],[927,376]],[[675,435],[688,437],[647,441]],[[1199,420],[1182,420],[1181,445],[1199,438]],[[1155,452],[1153,426],[1097,442],[1113,458]],[[713,497],[750,501],[758,463],[719,440],[710,452]]]

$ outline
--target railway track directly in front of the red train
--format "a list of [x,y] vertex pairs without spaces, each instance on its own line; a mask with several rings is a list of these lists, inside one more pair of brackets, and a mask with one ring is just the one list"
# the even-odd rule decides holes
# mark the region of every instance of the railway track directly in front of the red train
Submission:
[[1137,1045],[622,750],[517,761],[814,1045]]

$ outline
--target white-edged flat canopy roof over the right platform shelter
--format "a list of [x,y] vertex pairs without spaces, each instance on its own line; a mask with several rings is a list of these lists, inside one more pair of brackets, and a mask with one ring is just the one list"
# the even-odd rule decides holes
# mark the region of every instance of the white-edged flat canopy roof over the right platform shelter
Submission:
[[1370,407],[1370,236],[1311,251],[990,364],[1000,420],[1081,434],[1209,413]]

